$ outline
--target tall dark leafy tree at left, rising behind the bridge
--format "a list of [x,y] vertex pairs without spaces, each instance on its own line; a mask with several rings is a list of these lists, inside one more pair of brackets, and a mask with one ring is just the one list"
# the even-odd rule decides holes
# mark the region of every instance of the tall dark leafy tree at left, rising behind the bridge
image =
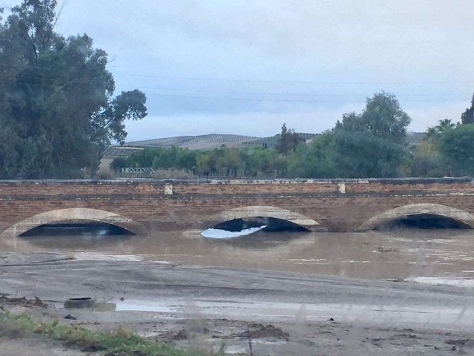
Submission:
[[106,52],[57,34],[57,19],[56,0],[23,0],[0,20],[2,178],[93,173],[111,140],[124,142],[124,120],[146,116],[144,93],[114,98]]

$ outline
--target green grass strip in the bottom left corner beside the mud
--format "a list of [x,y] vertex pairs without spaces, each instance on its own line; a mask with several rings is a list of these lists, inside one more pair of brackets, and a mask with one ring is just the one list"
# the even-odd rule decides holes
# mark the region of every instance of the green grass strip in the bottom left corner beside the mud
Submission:
[[[0,337],[25,337],[43,335],[63,342],[66,346],[80,348],[86,352],[102,351],[110,356],[191,356],[168,344],[148,340],[119,327],[115,331],[92,331],[82,326],[60,324],[57,320],[38,322],[25,313],[12,314],[0,307]],[[223,351],[207,355],[224,355]],[[204,356],[204,355],[203,355]]]

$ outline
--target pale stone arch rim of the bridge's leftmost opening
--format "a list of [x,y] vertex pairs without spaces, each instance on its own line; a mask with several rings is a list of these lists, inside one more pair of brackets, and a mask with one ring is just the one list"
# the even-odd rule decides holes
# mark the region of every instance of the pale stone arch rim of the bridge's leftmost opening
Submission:
[[118,227],[122,227],[129,232],[134,234],[142,234],[145,232],[144,227],[135,223],[131,219],[115,214],[113,212],[107,212],[105,210],[99,209],[89,209],[89,208],[67,208],[67,209],[58,209],[50,210],[48,212],[42,212],[34,216],[30,216],[27,219],[19,221],[9,227],[7,230],[0,234],[2,236],[19,236],[24,232],[32,230],[34,227],[41,225],[52,224],[52,223],[61,223],[61,222],[80,222],[80,221],[95,221],[99,223],[109,223]]

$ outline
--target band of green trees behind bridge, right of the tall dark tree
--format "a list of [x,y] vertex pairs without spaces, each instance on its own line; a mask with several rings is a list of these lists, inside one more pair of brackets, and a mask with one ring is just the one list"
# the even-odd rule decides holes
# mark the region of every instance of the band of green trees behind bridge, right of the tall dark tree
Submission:
[[[474,175],[474,124],[440,120],[429,129],[429,140],[408,146],[408,122],[392,95],[376,94],[362,113],[343,115],[335,129],[296,144],[286,154],[264,146],[221,146],[207,151],[154,148],[117,158],[111,166],[115,170],[153,167],[183,169],[196,176],[258,179]],[[288,133],[286,125],[282,131]]]

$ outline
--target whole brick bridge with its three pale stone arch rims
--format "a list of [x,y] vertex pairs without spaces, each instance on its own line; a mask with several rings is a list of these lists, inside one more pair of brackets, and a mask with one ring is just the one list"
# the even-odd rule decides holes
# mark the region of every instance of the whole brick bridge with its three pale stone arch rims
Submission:
[[473,180],[0,181],[0,237],[71,221],[100,221],[144,234],[205,230],[252,216],[347,232],[420,215],[474,227]]

